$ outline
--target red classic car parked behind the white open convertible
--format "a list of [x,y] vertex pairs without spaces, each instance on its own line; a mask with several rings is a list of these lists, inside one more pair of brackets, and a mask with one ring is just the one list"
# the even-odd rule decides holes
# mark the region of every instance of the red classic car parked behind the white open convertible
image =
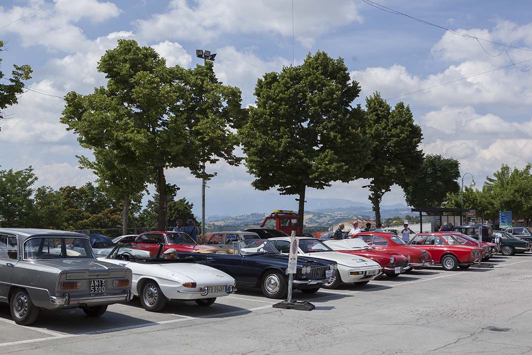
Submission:
[[135,249],[148,251],[150,256],[159,252],[159,244],[163,243],[163,251],[175,249],[178,252],[197,252],[200,250],[220,249],[210,245],[198,245],[190,236],[183,232],[145,232],[132,242]]

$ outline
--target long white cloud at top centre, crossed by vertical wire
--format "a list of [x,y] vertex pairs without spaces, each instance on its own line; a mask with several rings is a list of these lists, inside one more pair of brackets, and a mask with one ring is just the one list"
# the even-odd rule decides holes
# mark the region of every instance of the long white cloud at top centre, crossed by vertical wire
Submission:
[[[176,20],[179,19],[179,20]],[[362,19],[353,0],[334,6],[321,0],[294,2],[295,37],[305,46],[315,38]],[[187,39],[203,43],[231,33],[275,33],[292,36],[292,3],[286,0],[172,0],[165,13],[136,21],[146,40]]]

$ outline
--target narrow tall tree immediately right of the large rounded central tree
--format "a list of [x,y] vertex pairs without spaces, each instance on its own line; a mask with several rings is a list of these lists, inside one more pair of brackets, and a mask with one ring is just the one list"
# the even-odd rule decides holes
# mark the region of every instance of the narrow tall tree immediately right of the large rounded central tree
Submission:
[[371,179],[369,200],[380,223],[380,202],[394,184],[405,185],[422,162],[421,127],[414,123],[410,106],[400,102],[392,109],[379,93],[366,98],[364,134],[372,142],[370,160],[360,166],[360,176]]

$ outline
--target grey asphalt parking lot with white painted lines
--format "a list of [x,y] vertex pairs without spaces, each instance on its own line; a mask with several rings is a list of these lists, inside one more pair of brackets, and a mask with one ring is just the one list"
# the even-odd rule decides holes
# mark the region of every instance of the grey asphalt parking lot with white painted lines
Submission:
[[314,295],[311,312],[272,308],[240,289],[211,307],[138,299],[100,318],[43,311],[31,327],[0,306],[0,353],[532,353],[532,253],[494,257],[493,269],[428,268]]

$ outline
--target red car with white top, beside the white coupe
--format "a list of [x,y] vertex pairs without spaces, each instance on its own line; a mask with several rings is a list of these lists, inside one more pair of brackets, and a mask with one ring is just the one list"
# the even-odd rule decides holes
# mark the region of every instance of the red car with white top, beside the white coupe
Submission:
[[378,262],[383,268],[384,274],[389,277],[399,276],[408,268],[409,255],[373,249],[358,238],[328,240],[323,243],[327,244],[334,251],[359,255],[359,257],[365,257]]

